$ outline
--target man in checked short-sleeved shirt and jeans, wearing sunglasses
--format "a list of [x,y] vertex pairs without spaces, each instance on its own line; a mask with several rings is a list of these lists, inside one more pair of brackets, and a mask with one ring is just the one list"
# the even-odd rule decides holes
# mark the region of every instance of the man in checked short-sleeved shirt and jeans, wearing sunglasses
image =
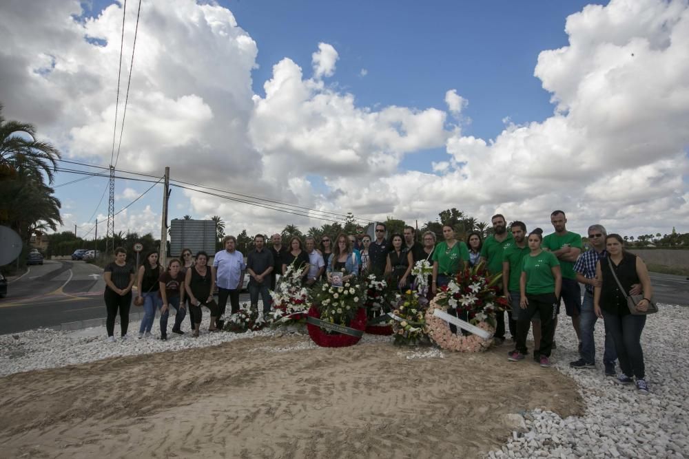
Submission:
[[[601,279],[596,279],[596,264],[608,255],[605,249],[605,237],[607,233],[602,225],[595,224],[588,227],[588,242],[591,248],[584,252],[574,265],[577,282],[586,286],[584,301],[582,301],[582,313],[579,326],[582,332],[582,345],[579,349],[579,360],[570,362],[573,368],[595,368],[596,345],[593,339],[593,329],[596,325],[596,314],[593,311],[593,288],[601,286]],[[606,376],[615,376],[615,343],[605,334],[605,353],[603,363]]]

